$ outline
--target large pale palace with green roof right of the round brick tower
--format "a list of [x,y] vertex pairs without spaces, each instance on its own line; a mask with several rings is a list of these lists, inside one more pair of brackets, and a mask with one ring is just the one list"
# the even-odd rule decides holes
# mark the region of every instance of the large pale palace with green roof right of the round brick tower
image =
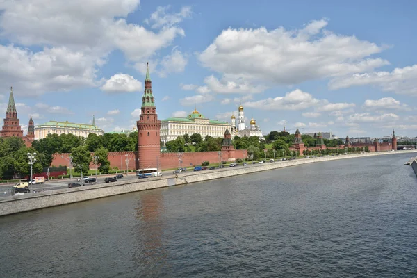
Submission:
[[203,138],[223,137],[224,131],[230,129],[228,122],[206,119],[196,109],[188,117],[169,117],[161,121],[161,140],[165,143],[177,139],[178,136],[199,133]]

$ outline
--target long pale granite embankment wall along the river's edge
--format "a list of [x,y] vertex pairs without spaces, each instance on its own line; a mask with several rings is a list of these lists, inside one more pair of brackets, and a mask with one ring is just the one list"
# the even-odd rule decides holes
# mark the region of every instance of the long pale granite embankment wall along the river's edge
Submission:
[[178,178],[174,177],[156,177],[152,179],[125,181],[117,184],[104,184],[97,186],[88,186],[81,188],[68,188],[63,190],[50,190],[31,195],[17,195],[0,201],[0,215],[20,213],[24,211],[33,211],[40,208],[51,206],[60,206],[75,202],[87,201],[101,197],[109,197],[124,193],[131,193],[140,190],[149,190],[154,188],[163,188],[166,186],[176,186],[198,181],[208,181],[211,179],[220,179],[224,177],[233,177],[238,174],[250,174],[252,172],[261,172],[265,170],[274,170],[282,167],[301,165],[306,163],[315,163],[323,161],[334,161],[346,158],[359,158],[367,156],[405,154],[415,153],[414,151],[401,152],[377,152],[370,154],[352,154],[347,156],[327,156],[322,158],[297,159],[294,161],[281,161],[278,163],[259,164],[254,167],[236,167],[231,170],[211,170],[204,172],[190,172],[181,174]]

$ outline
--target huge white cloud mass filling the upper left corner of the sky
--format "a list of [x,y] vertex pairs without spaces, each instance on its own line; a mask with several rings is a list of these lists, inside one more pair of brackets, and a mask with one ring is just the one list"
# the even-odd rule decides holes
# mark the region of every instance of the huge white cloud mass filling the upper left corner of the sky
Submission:
[[[22,45],[0,46],[0,83],[13,83],[22,95],[96,87],[97,68],[111,51],[119,49],[138,67],[185,35],[178,26],[154,33],[126,22],[139,0],[20,0],[0,5],[1,35]],[[44,48],[25,48],[31,46]]]

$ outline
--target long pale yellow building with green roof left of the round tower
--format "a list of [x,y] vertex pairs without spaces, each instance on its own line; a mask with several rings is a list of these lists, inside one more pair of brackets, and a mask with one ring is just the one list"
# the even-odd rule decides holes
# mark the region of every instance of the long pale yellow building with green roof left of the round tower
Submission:
[[49,121],[35,126],[35,140],[43,139],[47,137],[48,134],[58,134],[58,136],[61,134],[74,134],[74,136],[87,138],[90,133],[95,133],[97,135],[104,134],[104,131],[95,125],[94,115],[92,116],[92,124]]

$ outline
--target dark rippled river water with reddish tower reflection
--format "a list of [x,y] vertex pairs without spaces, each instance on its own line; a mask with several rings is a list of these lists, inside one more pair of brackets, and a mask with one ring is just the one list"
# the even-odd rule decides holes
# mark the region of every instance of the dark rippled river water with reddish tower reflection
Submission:
[[0,218],[0,277],[417,277],[410,154]]

